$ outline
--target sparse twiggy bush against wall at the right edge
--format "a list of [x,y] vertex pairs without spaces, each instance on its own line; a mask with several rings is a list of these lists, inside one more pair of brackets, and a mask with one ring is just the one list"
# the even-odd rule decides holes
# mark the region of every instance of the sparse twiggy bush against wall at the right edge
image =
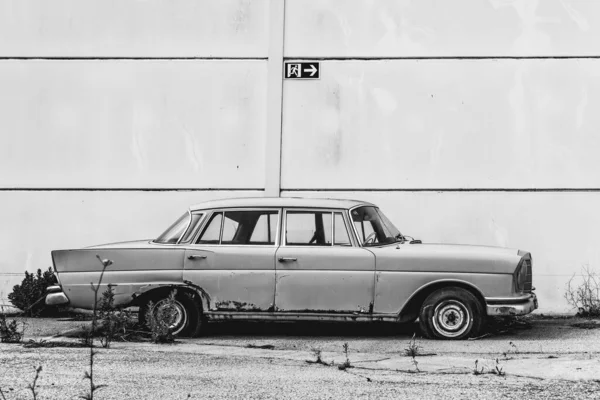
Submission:
[[577,281],[574,274],[567,282],[567,303],[577,309],[578,317],[600,317],[600,275],[589,265],[584,265],[581,267],[581,277]]

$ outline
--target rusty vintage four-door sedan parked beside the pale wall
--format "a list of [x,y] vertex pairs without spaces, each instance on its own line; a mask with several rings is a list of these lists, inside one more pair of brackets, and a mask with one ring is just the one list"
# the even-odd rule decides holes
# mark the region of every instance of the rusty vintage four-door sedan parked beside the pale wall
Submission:
[[[424,336],[478,335],[487,316],[537,308],[531,254],[424,244],[374,204],[247,198],[190,207],[154,240],[52,252],[59,285],[47,304],[93,308],[90,282],[140,319],[169,311],[171,329],[198,335],[206,321],[419,319]],[[102,289],[102,288],[101,288]],[[167,301],[176,289],[175,301]],[[104,289],[102,289],[104,290]]]

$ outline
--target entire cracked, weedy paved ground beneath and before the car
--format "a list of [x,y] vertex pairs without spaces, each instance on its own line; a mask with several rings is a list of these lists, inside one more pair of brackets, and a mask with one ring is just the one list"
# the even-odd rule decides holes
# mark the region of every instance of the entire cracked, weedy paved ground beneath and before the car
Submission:
[[[56,331],[89,323],[26,322],[36,332],[26,341],[44,338],[59,346],[77,339]],[[95,398],[600,399],[600,329],[584,329],[596,325],[530,318],[496,324],[477,340],[417,334],[413,360],[405,349],[418,332],[415,324],[215,323],[203,337],[171,345],[97,348],[95,383],[107,386]],[[342,370],[344,343],[350,367]],[[314,362],[319,351],[323,363]],[[89,385],[82,379],[88,362],[86,348],[0,344],[0,389],[6,399],[33,398],[27,386],[42,365],[38,399],[77,398]]]

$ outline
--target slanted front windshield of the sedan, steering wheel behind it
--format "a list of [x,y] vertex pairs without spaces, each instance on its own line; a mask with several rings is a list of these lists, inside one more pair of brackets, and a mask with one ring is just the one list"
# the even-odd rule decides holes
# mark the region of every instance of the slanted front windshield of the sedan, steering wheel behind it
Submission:
[[398,228],[377,207],[359,207],[352,210],[351,214],[363,246],[395,243],[402,237]]

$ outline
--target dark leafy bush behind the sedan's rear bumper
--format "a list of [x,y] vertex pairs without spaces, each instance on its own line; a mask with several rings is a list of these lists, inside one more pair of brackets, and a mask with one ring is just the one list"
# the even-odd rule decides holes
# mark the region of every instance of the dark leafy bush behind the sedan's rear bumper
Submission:
[[26,316],[39,315],[46,307],[46,289],[55,283],[56,277],[52,267],[48,267],[43,273],[41,269],[35,274],[25,271],[25,278],[20,285],[13,286],[8,300]]

